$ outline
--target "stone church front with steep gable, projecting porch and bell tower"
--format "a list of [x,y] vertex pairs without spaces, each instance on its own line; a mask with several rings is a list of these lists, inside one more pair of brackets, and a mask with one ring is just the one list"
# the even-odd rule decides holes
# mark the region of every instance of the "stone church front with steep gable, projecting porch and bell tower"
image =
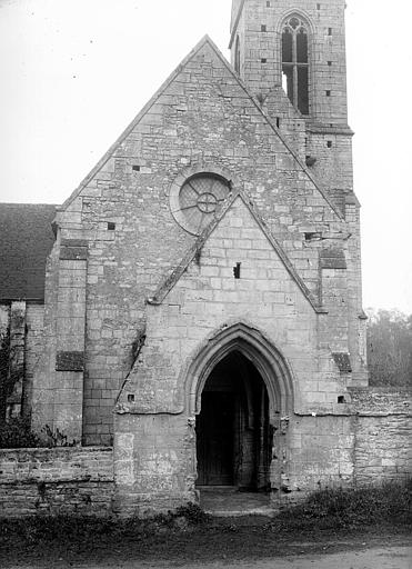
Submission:
[[344,8],[233,0],[231,63],[202,39],[57,209],[26,406],[113,446],[122,508],[406,475],[403,400],[368,388]]

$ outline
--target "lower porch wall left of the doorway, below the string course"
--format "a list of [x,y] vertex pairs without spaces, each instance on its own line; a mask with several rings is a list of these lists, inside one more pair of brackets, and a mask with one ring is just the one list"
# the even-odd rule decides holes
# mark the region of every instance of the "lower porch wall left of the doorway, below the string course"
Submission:
[[193,441],[185,415],[117,417],[114,511],[144,517],[195,501]]

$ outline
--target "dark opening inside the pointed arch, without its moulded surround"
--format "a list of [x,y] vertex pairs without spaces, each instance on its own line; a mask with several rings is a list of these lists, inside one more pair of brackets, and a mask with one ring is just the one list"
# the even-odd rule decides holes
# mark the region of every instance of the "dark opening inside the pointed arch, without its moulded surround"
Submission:
[[214,366],[201,392],[195,423],[198,487],[270,489],[269,407],[264,381],[241,351],[231,351]]

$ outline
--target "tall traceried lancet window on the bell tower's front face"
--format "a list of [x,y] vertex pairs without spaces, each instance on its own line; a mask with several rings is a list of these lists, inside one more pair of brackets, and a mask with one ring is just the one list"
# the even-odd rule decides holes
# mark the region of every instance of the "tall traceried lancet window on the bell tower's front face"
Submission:
[[309,30],[299,16],[282,28],[282,86],[292,104],[309,114]]

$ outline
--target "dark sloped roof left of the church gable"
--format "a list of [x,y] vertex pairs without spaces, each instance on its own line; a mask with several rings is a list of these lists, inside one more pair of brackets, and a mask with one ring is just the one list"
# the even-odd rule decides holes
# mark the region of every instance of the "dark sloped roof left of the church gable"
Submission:
[[0,300],[44,298],[56,206],[0,203]]

